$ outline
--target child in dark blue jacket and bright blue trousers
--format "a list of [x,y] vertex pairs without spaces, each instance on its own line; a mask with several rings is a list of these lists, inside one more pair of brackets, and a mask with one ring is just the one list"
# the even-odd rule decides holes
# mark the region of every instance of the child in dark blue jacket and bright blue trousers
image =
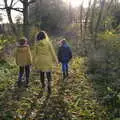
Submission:
[[72,51],[66,40],[61,41],[61,46],[58,49],[58,60],[62,64],[63,79],[68,77],[68,63],[72,58]]

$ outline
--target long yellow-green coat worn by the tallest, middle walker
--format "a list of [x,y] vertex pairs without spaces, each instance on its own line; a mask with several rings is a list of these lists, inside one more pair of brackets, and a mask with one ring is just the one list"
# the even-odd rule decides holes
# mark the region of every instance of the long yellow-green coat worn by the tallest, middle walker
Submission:
[[57,57],[51,42],[48,39],[38,41],[34,48],[35,69],[51,71],[55,63],[57,63]]

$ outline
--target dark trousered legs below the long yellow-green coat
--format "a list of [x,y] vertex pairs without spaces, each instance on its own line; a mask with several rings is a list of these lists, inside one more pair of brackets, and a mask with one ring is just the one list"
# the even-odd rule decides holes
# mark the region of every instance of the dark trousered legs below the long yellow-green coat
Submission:
[[41,84],[42,84],[42,88],[45,87],[45,74],[48,80],[48,92],[51,93],[51,72],[40,72],[40,80],[41,80]]

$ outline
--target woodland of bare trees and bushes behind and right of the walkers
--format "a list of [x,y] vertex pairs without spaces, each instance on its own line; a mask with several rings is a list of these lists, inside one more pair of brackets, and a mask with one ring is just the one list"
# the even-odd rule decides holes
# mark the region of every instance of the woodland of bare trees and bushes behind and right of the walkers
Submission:
[[[16,7],[18,3],[22,7]],[[96,99],[107,111],[108,120],[120,119],[119,0],[89,0],[88,7],[84,7],[84,0],[78,7],[62,0],[3,0],[0,10],[0,21],[4,21],[2,11],[9,21],[0,25],[1,61],[11,56],[21,36],[27,37],[32,46],[36,33],[45,30],[56,50],[57,42],[66,38],[74,57],[85,58],[84,74],[91,79]],[[15,21],[12,11],[18,11]],[[95,118],[103,119],[107,120]]]

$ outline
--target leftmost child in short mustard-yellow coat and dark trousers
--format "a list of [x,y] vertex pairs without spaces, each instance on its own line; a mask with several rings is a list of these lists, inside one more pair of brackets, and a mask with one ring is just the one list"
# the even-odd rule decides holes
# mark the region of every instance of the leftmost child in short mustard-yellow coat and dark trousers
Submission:
[[26,38],[21,38],[18,42],[17,48],[16,48],[16,64],[19,66],[19,76],[18,76],[18,87],[21,85],[22,77],[24,75],[25,71],[25,77],[26,77],[26,84],[25,86],[28,86],[29,83],[29,75],[30,75],[30,65],[32,63],[32,56],[30,47],[27,43]]

